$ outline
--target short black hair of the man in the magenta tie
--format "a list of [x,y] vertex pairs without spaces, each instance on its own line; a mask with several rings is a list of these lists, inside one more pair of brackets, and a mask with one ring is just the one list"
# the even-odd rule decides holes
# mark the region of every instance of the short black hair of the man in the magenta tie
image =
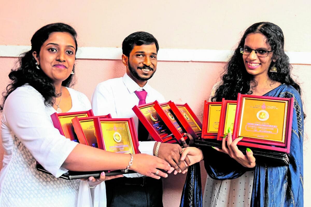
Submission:
[[126,55],[127,57],[130,56],[130,53],[132,51],[132,49],[134,48],[135,45],[149,45],[149,44],[156,44],[156,52],[158,52],[159,50],[159,44],[158,44],[158,40],[156,40],[156,38],[148,33],[148,32],[134,32],[130,35],[128,35],[122,43],[122,52],[124,55]]

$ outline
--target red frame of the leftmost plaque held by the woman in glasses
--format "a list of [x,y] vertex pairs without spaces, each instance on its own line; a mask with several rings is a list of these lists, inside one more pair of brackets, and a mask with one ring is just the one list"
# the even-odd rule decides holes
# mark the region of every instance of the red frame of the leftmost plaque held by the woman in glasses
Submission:
[[[202,139],[217,139],[218,132],[207,132],[208,130],[208,124],[209,124],[209,111],[210,111],[210,105],[220,105],[221,102],[207,102],[204,101],[204,111],[203,111],[203,125],[202,125]],[[220,112],[221,113],[221,112]],[[220,118],[220,117],[219,117]],[[218,127],[219,129],[219,127]]]

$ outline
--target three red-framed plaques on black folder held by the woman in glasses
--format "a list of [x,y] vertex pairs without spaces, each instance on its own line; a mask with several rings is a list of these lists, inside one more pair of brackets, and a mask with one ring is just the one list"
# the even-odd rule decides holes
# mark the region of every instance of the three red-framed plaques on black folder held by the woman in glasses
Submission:
[[232,140],[243,137],[238,148],[251,148],[256,162],[289,165],[293,98],[238,94],[237,101],[204,103],[202,139],[197,147],[221,148],[231,128]]

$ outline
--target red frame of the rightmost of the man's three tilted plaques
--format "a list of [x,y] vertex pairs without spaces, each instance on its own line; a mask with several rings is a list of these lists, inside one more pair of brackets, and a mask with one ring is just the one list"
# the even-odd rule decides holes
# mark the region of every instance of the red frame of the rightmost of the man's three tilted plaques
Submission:
[[[169,107],[172,109],[174,112],[175,116],[178,118],[179,122],[183,125],[183,128],[193,137],[193,139],[198,139],[202,135],[202,123],[200,120],[197,118],[195,113],[192,111],[192,109],[189,107],[187,103],[185,104],[175,104],[173,101],[169,101]],[[190,115],[193,117],[194,121],[197,123],[197,125],[201,128],[201,131],[195,132],[193,131],[192,127],[190,124],[187,122],[187,120],[183,117],[183,114],[179,111],[177,106],[183,106],[185,107]]]

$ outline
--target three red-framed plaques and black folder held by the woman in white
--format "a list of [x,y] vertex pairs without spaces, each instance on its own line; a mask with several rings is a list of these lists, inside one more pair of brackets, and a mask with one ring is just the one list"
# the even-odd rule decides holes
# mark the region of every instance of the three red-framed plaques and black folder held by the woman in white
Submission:
[[[51,115],[54,127],[60,134],[72,141],[84,145],[107,150],[116,153],[137,154],[138,139],[133,118],[111,118],[110,114],[105,116],[94,116],[92,110],[72,113],[54,113]],[[42,165],[37,163],[37,170],[49,173]],[[102,171],[64,173],[61,178],[80,179],[90,176],[99,177]],[[121,170],[105,171],[106,175],[124,174]],[[135,173],[128,171],[128,173]],[[50,174],[50,173],[49,173]]]

